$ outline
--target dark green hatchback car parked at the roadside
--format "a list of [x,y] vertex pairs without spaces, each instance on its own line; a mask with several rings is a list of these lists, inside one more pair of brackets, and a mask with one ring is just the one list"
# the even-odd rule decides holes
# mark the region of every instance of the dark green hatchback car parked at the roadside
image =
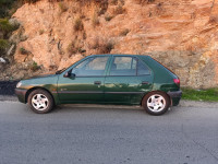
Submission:
[[180,79],[149,56],[93,55],[56,74],[17,83],[19,101],[38,114],[59,104],[142,105],[152,115],[177,106]]

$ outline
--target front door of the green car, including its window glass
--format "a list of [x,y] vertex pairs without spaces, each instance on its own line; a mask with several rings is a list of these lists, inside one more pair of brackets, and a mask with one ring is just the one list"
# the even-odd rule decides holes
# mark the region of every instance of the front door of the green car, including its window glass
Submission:
[[71,78],[60,77],[58,94],[61,103],[100,103],[109,56],[89,57],[71,71]]

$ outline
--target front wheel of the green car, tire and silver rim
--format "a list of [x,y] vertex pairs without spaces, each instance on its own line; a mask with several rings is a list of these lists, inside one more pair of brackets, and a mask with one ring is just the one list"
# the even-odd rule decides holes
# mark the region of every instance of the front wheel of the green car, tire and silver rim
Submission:
[[28,105],[37,114],[47,114],[53,108],[55,103],[52,96],[47,91],[39,89],[31,92]]

